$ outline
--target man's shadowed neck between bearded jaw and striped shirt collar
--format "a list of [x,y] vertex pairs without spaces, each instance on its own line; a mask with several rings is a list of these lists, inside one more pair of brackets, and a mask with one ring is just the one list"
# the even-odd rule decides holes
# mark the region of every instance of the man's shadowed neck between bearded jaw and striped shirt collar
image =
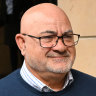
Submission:
[[28,69],[36,78],[52,88],[54,91],[60,91],[63,88],[66,80],[66,73],[57,74],[52,72],[38,72],[30,68]]

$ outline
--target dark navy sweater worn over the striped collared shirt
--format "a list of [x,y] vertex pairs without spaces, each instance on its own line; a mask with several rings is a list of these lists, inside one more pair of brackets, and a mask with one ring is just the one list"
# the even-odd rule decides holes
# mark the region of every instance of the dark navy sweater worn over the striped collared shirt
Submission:
[[39,92],[20,76],[20,69],[0,80],[0,96],[96,96],[96,78],[71,70],[74,82],[59,92]]

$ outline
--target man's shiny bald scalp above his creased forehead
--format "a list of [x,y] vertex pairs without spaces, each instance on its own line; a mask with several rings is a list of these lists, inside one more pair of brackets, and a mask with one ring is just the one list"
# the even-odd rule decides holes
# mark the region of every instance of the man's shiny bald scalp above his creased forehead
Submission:
[[42,3],[31,7],[24,13],[21,19],[21,33],[26,33],[28,29],[36,27],[36,24],[40,22],[43,24],[51,20],[52,22],[65,21],[70,24],[64,11],[54,4]]

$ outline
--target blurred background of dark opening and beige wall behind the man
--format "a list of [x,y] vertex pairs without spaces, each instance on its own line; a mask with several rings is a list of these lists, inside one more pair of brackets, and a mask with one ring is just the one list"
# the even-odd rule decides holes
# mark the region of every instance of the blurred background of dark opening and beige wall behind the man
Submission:
[[23,56],[15,43],[21,16],[28,8],[44,2],[62,8],[74,33],[82,37],[76,46],[73,68],[96,77],[96,0],[0,0],[0,78],[22,65]]

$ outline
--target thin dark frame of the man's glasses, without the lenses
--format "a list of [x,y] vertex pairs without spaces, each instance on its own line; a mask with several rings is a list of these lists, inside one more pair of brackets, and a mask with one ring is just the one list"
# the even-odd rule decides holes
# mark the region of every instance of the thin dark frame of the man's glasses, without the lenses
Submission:
[[[56,40],[56,44],[55,44],[54,46],[52,46],[52,47],[44,47],[44,46],[42,46],[42,44],[41,44],[41,39],[42,39],[43,37],[46,37],[46,36],[36,37],[36,36],[28,35],[28,34],[25,34],[25,33],[23,33],[22,35],[28,36],[28,37],[31,37],[31,38],[39,39],[40,46],[43,47],[43,48],[52,48],[52,47],[55,47],[55,46],[57,45],[58,40],[59,40],[60,38],[62,39],[63,44],[64,44],[65,46],[68,46],[68,45],[66,45],[66,44],[64,43],[64,35],[62,35],[62,36],[56,36],[56,37],[58,37],[58,39]],[[71,45],[71,46],[77,45],[77,44],[78,44],[78,41],[79,41],[79,38],[80,38],[80,34],[70,34],[70,35],[76,35],[76,36],[78,36],[78,40],[77,40],[76,42],[74,42],[74,45]],[[65,35],[65,36],[66,36],[66,35]],[[68,47],[71,47],[71,46],[68,46]]]

